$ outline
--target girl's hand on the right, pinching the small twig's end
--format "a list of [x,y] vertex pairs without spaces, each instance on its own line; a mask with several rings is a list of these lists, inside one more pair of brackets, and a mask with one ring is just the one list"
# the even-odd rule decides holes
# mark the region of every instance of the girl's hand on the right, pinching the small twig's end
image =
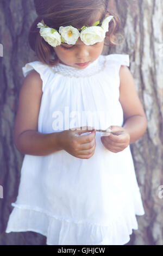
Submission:
[[[109,128],[107,129],[108,132],[103,132],[101,136],[104,147],[114,153],[123,151],[128,147],[130,142],[128,131],[121,126],[110,126]],[[117,132],[117,135],[110,133],[109,130],[111,132]]]

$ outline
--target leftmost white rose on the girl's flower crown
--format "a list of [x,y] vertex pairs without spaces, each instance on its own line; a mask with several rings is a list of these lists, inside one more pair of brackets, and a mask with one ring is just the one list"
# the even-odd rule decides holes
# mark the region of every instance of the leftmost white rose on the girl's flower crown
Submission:
[[54,28],[42,27],[40,28],[40,35],[52,47],[61,44],[61,36]]

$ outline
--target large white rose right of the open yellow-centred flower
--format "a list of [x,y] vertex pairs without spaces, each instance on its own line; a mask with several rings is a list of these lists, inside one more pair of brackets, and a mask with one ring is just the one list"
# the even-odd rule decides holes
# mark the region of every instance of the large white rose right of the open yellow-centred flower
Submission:
[[98,26],[87,27],[80,32],[80,38],[86,45],[93,45],[102,42],[105,38],[104,29]]

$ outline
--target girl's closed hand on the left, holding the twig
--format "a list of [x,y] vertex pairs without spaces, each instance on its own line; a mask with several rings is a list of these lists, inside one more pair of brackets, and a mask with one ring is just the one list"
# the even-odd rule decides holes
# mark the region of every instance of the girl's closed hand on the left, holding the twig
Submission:
[[[82,133],[85,132],[91,133],[88,135],[80,136]],[[94,154],[96,148],[96,131],[93,128],[89,130],[88,126],[83,126],[73,128],[73,130],[65,130],[61,133],[62,148],[72,156],[81,159],[89,159]]]

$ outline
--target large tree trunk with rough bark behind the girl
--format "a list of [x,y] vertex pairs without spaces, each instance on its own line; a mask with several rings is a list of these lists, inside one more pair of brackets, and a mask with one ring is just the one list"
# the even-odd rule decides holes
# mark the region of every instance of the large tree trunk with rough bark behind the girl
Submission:
[[[120,46],[105,46],[103,54],[129,54],[129,69],[134,76],[137,93],[148,119],[146,133],[130,145],[146,214],[137,216],[139,229],[133,230],[128,244],[162,245],[163,2],[111,0],[109,5],[121,17],[122,34],[126,41]],[[0,57],[1,245],[46,244],[45,236],[32,231],[5,233],[13,209],[11,203],[17,197],[24,157],[14,146],[13,129],[18,94],[23,81],[22,66],[37,60],[34,52],[30,50],[27,37],[35,17],[32,0],[0,0],[0,43],[3,45],[3,57]]]

